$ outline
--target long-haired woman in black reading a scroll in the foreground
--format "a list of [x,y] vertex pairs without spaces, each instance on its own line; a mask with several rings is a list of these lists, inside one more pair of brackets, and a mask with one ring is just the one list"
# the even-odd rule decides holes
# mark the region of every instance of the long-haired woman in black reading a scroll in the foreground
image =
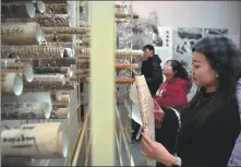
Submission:
[[[164,139],[157,143],[143,133],[142,153],[159,162],[157,166],[227,167],[240,133],[236,85],[241,52],[221,35],[200,39],[192,51],[192,76],[198,90],[181,115],[159,109],[161,117],[155,119],[161,122]],[[172,131],[176,138],[165,140]]]

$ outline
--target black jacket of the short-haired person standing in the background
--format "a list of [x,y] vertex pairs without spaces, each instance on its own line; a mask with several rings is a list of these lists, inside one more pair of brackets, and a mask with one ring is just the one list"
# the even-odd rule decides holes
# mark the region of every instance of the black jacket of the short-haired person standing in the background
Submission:
[[146,79],[146,83],[152,95],[156,94],[164,80],[160,63],[161,60],[158,55],[154,55],[142,62],[141,72]]

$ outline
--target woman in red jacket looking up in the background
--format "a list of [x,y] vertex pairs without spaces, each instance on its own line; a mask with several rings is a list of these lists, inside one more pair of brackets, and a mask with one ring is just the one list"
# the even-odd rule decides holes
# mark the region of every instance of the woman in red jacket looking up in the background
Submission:
[[[189,93],[192,84],[190,82],[189,73],[184,69],[181,62],[178,60],[168,60],[162,69],[162,74],[166,76],[166,81],[160,84],[157,93],[153,98],[155,106],[160,107],[180,107],[188,104],[186,94]],[[156,141],[160,142],[162,139],[160,134],[160,124],[156,121],[155,136]],[[176,135],[174,133],[169,133]]]

